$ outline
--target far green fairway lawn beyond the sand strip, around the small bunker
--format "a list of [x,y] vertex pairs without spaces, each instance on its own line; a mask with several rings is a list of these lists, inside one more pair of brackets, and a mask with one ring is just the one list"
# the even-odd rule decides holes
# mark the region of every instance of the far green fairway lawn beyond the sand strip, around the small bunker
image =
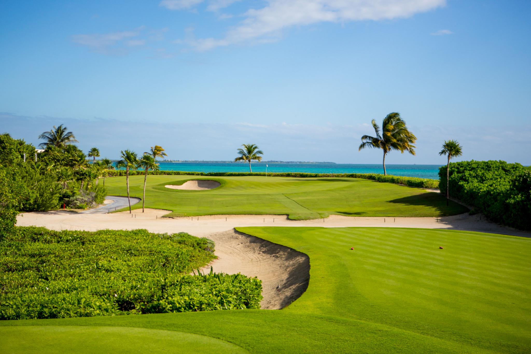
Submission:
[[[210,191],[182,191],[165,185],[213,179]],[[130,177],[131,196],[142,197],[143,176]],[[107,178],[109,195],[126,195],[125,177]],[[290,219],[330,214],[364,217],[437,217],[466,212],[439,193],[359,178],[148,176],[147,208],[173,211],[166,216],[213,214],[287,214]],[[142,208],[141,203],[134,209]]]

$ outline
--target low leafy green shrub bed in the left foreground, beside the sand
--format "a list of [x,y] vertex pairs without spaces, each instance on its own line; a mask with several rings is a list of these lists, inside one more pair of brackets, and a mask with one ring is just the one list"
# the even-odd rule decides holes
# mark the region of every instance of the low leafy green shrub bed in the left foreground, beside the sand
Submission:
[[256,278],[189,275],[212,252],[185,233],[16,227],[0,241],[0,319],[259,308]]

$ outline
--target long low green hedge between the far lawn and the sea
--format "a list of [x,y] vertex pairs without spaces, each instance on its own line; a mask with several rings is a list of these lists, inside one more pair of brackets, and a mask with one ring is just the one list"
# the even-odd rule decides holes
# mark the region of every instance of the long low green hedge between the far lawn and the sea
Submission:
[[[130,176],[143,175],[144,171],[129,171]],[[211,176],[211,177],[232,177],[232,176],[265,176],[264,172],[189,172],[189,171],[148,171],[148,175],[173,175],[173,176]],[[107,171],[108,177],[125,176],[125,170],[111,170]],[[405,176],[384,176],[380,174],[310,174],[304,172],[281,172],[268,173],[268,177],[350,177],[350,178],[365,178],[372,179],[378,182],[387,182],[401,184],[409,187],[419,188],[439,188],[439,180],[418,177]]]

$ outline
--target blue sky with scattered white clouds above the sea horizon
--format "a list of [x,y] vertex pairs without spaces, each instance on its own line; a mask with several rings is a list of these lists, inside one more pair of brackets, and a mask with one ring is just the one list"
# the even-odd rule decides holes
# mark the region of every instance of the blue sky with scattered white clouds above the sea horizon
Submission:
[[417,156],[531,164],[531,2],[444,0],[4,1],[0,131],[65,124],[109,158],[153,144],[175,159],[379,163],[357,151],[398,111]]

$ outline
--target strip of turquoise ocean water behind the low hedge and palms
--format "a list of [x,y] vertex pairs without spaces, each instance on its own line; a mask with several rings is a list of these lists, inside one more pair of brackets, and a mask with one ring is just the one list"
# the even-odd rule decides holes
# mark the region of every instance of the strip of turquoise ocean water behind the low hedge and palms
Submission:
[[[253,172],[309,172],[317,174],[383,174],[382,165],[347,163],[278,163],[253,162]],[[194,172],[249,172],[248,163],[231,162],[160,162],[160,169],[166,171]],[[419,178],[439,179],[441,165],[386,165],[387,174]]]

